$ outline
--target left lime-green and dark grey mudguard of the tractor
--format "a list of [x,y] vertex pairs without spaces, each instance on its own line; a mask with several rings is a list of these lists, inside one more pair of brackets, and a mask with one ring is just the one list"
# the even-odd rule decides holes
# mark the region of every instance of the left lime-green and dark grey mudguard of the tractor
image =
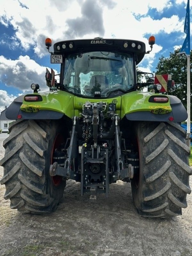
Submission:
[[[28,102],[25,96],[40,96],[41,100]],[[45,92],[21,95],[6,110],[6,117],[17,119],[60,119],[74,115],[73,96],[67,92]]]

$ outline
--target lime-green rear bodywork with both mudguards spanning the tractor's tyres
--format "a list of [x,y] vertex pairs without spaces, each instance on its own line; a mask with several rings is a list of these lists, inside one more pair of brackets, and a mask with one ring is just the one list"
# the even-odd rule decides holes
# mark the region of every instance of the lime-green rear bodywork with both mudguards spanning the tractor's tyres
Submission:
[[[28,102],[25,96],[37,96],[38,101]],[[116,104],[116,113],[132,121],[182,122],[188,117],[181,101],[172,95],[165,95],[168,102],[154,102],[151,97],[163,97],[162,94],[134,91],[113,99],[103,99],[107,103]],[[65,91],[33,93],[16,98],[6,110],[9,119],[60,119],[66,115],[72,118],[79,116],[86,101],[97,102],[98,99],[85,99]],[[158,109],[162,112],[157,113]],[[106,109],[107,111],[107,109]]]

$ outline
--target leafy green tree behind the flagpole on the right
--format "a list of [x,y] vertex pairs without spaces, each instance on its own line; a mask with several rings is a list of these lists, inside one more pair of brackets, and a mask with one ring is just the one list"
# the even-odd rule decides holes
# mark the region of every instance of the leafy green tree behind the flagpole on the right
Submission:
[[[170,52],[168,58],[161,56],[156,67],[156,74],[172,74],[175,86],[170,89],[168,94],[177,96],[187,108],[187,57],[185,54],[177,55],[179,51],[180,49],[175,50],[173,53]],[[192,59],[192,51],[190,59]],[[190,70],[191,68],[192,63],[190,64]],[[192,77],[192,72],[190,72],[190,77]],[[192,85],[190,84],[190,86],[192,95]]]

